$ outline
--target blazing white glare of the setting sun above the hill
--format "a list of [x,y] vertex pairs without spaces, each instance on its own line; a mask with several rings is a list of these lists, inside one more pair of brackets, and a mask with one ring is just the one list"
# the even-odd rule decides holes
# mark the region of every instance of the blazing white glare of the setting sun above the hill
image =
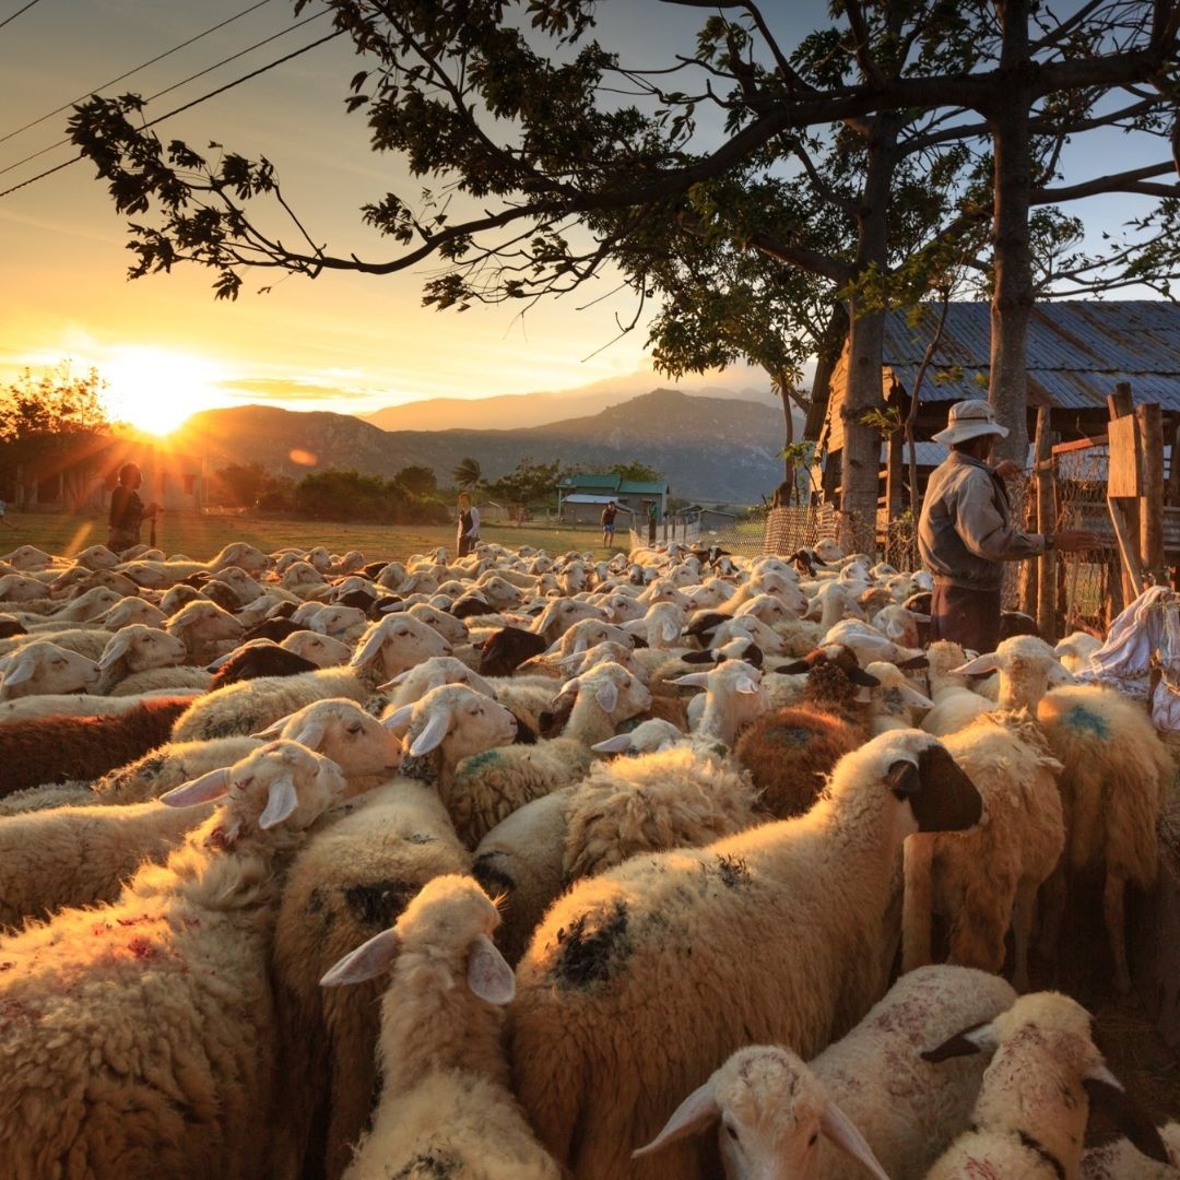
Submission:
[[170,434],[190,414],[221,404],[212,368],[202,360],[156,348],[127,348],[103,365],[114,421],[149,434]]

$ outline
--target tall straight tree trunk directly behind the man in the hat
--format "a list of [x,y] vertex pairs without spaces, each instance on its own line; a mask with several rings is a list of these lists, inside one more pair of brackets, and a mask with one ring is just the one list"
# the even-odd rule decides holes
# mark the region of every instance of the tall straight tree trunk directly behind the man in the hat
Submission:
[[1032,253],[1029,209],[1032,190],[1032,137],[1029,111],[1029,0],[998,0],[1003,24],[1001,68],[1010,85],[989,122],[995,156],[995,290],[991,297],[991,386],[989,398],[1008,438],[996,445],[997,458],[1028,459],[1028,332],[1032,315]]

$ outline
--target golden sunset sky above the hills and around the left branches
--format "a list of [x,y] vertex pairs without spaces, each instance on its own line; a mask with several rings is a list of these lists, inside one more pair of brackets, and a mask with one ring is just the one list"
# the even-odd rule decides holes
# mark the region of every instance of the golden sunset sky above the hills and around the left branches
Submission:
[[[107,96],[153,94],[295,25],[289,0],[266,0],[195,45],[104,85],[255,2],[34,0],[13,17],[27,0],[0,0],[0,21],[13,18],[0,27],[0,189],[73,153],[59,146],[20,163],[64,138],[68,111],[13,133],[22,124],[99,87]],[[819,24],[826,7],[807,0],[792,13],[811,12],[808,21]],[[297,19],[315,12],[310,5]],[[691,53],[703,20],[702,9],[656,2],[607,2],[598,12],[604,42],[610,33],[625,34],[627,61],[635,65],[667,61],[673,45]],[[320,17],[160,97],[148,107],[149,117],[309,44],[329,27]],[[393,248],[360,225],[356,209],[389,189],[415,192],[422,182],[402,183],[394,158],[368,150],[362,114],[345,114],[348,79],[359,68],[349,46],[340,38],[314,50],[169,119],[158,133],[197,148],[216,139],[248,156],[266,155],[314,238],[335,253],[388,257]],[[1093,208],[1097,221],[1115,216],[1113,204]],[[365,413],[431,396],[560,391],[601,381],[641,392],[671,384],[642,375],[650,371],[645,332],[609,343],[617,334],[616,312],[631,312],[625,293],[578,310],[609,291],[608,280],[544,302],[524,320],[514,307],[477,306],[463,315],[424,309],[421,283],[430,268],[391,277],[290,277],[269,295],[256,290],[270,280],[247,275],[242,296],[227,303],[214,301],[211,273],[194,267],[127,282],[125,242],[125,225],[86,162],[0,197],[0,381],[26,366],[39,369],[65,359],[79,369],[93,365],[110,380],[124,417],[160,430],[196,408],[250,401]],[[768,382],[760,372],[741,369],[683,387],[702,385]]]

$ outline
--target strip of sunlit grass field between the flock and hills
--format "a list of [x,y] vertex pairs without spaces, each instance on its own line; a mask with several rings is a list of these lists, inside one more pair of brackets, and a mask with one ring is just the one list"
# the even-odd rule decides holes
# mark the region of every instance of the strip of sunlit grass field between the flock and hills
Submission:
[[[51,553],[70,556],[87,545],[106,543],[106,520],[94,514],[13,512],[5,517],[12,527],[0,527],[0,553],[18,545],[35,545]],[[185,553],[204,560],[231,540],[244,540],[266,552],[284,545],[309,549],[326,545],[343,553],[359,549],[368,560],[404,560],[411,553],[421,553],[438,545],[446,546],[454,556],[454,525],[380,525],[337,524],[327,520],[275,520],[251,516],[197,516],[191,512],[165,512],[156,526],[156,544],[165,553]],[[609,557],[625,546],[627,533],[620,533],[623,545],[616,550],[603,549],[598,529],[557,527],[545,524],[485,525],[484,540],[497,542],[510,549],[532,545],[550,553],[570,549],[590,550],[595,557]],[[149,537],[149,525],[142,532]]]

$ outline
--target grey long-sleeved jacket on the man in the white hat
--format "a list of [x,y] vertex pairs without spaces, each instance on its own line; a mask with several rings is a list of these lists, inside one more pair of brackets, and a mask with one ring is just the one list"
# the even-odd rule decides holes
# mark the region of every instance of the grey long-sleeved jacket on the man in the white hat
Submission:
[[961,451],[935,470],[918,520],[918,551],[936,577],[951,585],[998,590],[1001,562],[1044,552],[1044,537],[1014,527],[1004,481]]

